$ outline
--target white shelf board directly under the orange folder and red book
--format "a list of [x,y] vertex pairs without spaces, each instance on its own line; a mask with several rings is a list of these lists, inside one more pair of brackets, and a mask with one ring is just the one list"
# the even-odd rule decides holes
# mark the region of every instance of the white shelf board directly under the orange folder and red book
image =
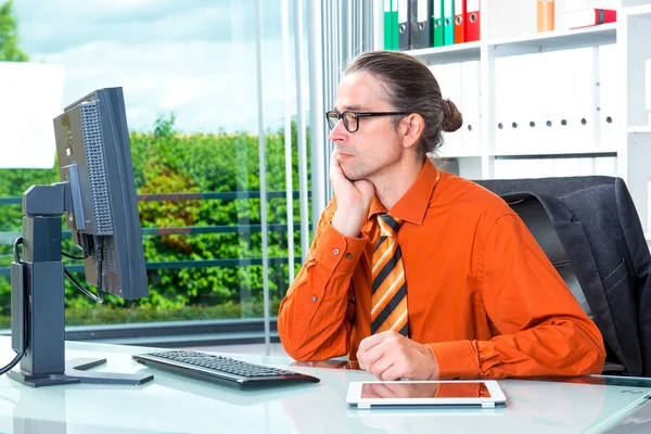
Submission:
[[615,43],[617,40],[616,26],[617,23],[610,23],[573,30],[545,31],[493,39],[488,40],[488,49],[493,55],[501,58]]

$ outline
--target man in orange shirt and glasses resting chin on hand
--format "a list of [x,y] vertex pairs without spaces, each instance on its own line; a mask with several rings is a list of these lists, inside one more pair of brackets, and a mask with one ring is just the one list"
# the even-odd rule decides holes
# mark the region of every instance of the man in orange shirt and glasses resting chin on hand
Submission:
[[426,154],[461,115],[400,52],[344,72],[327,113],[334,197],[283,299],[288,354],[383,380],[601,372],[601,334],[498,196]]

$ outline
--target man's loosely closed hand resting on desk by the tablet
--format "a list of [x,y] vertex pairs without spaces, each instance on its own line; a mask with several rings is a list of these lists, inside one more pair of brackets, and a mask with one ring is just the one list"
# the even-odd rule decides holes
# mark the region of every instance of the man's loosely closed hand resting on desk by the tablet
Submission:
[[438,366],[429,346],[396,332],[382,332],[361,341],[359,367],[380,380],[436,380]]

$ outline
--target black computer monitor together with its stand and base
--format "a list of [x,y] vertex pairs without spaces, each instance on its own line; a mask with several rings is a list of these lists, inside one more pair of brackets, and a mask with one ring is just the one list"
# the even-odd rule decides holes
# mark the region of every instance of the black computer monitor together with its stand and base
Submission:
[[99,301],[102,292],[125,299],[149,294],[122,88],[68,105],[54,118],[54,132],[62,182],[23,194],[23,237],[12,264],[12,346],[23,357],[10,376],[33,386],[140,384],[153,376],[87,371],[105,360],[66,363],[64,350],[64,272],[73,278],[61,260],[62,215],[99,296],[75,281],[82,291]]

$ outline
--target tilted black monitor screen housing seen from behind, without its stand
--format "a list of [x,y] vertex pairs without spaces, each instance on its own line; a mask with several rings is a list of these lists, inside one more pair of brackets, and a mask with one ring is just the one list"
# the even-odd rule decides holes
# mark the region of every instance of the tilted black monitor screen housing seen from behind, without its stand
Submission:
[[54,135],[61,180],[69,182],[73,199],[66,222],[87,257],[86,280],[125,299],[148,296],[122,88],[95,90],[65,107],[54,119]]

